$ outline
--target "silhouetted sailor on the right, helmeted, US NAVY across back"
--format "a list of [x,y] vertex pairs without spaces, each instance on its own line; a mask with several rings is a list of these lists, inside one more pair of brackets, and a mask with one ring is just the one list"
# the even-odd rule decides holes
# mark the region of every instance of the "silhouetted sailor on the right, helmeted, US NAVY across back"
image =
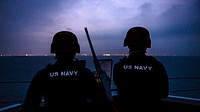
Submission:
[[153,56],[149,31],[144,27],[130,28],[124,39],[129,56],[114,65],[113,79],[117,86],[121,112],[157,112],[160,101],[169,93],[168,75],[164,65]]

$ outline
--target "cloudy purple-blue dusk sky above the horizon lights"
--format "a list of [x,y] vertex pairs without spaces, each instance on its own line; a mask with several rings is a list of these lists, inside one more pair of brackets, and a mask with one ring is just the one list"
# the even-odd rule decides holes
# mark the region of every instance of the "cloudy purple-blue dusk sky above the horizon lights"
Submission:
[[150,55],[200,56],[200,0],[0,0],[0,55],[50,54],[53,35],[74,32],[81,54],[128,53],[129,28],[146,27]]

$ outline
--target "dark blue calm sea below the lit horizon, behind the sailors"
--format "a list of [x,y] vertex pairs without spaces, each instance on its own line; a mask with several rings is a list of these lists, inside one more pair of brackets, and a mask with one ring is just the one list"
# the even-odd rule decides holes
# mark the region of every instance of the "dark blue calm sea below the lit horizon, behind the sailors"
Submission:
[[[86,66],[95,71],[91,56],[77,56],[86,60]],[[100,56],[98,59],[112,59],[113,64],[122,56]],[[200,57],[156,56],[166,67],[169,76],[170,95],[200,99]],[[1,56],[0,57],[0,103],[21,102],[35,73],[48,63],[54,63],[53,56]],[[112,88],[115,85],[112,83]]]

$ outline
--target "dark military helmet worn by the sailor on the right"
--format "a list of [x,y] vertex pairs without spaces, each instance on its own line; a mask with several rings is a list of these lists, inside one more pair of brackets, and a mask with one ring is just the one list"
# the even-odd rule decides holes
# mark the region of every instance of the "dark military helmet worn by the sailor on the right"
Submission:
[[149,31],[144,27],[133,27],[129,29],[124,39],[124,47],[126,46],[151,48]]

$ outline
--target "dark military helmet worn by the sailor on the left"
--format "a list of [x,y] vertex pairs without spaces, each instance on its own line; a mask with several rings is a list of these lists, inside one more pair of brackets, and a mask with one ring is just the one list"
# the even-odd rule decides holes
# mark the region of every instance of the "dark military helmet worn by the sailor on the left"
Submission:
[[60,31],[53,36],[51,53],[59,52],[80,53],[80,45],[74,33],[69,31]]

